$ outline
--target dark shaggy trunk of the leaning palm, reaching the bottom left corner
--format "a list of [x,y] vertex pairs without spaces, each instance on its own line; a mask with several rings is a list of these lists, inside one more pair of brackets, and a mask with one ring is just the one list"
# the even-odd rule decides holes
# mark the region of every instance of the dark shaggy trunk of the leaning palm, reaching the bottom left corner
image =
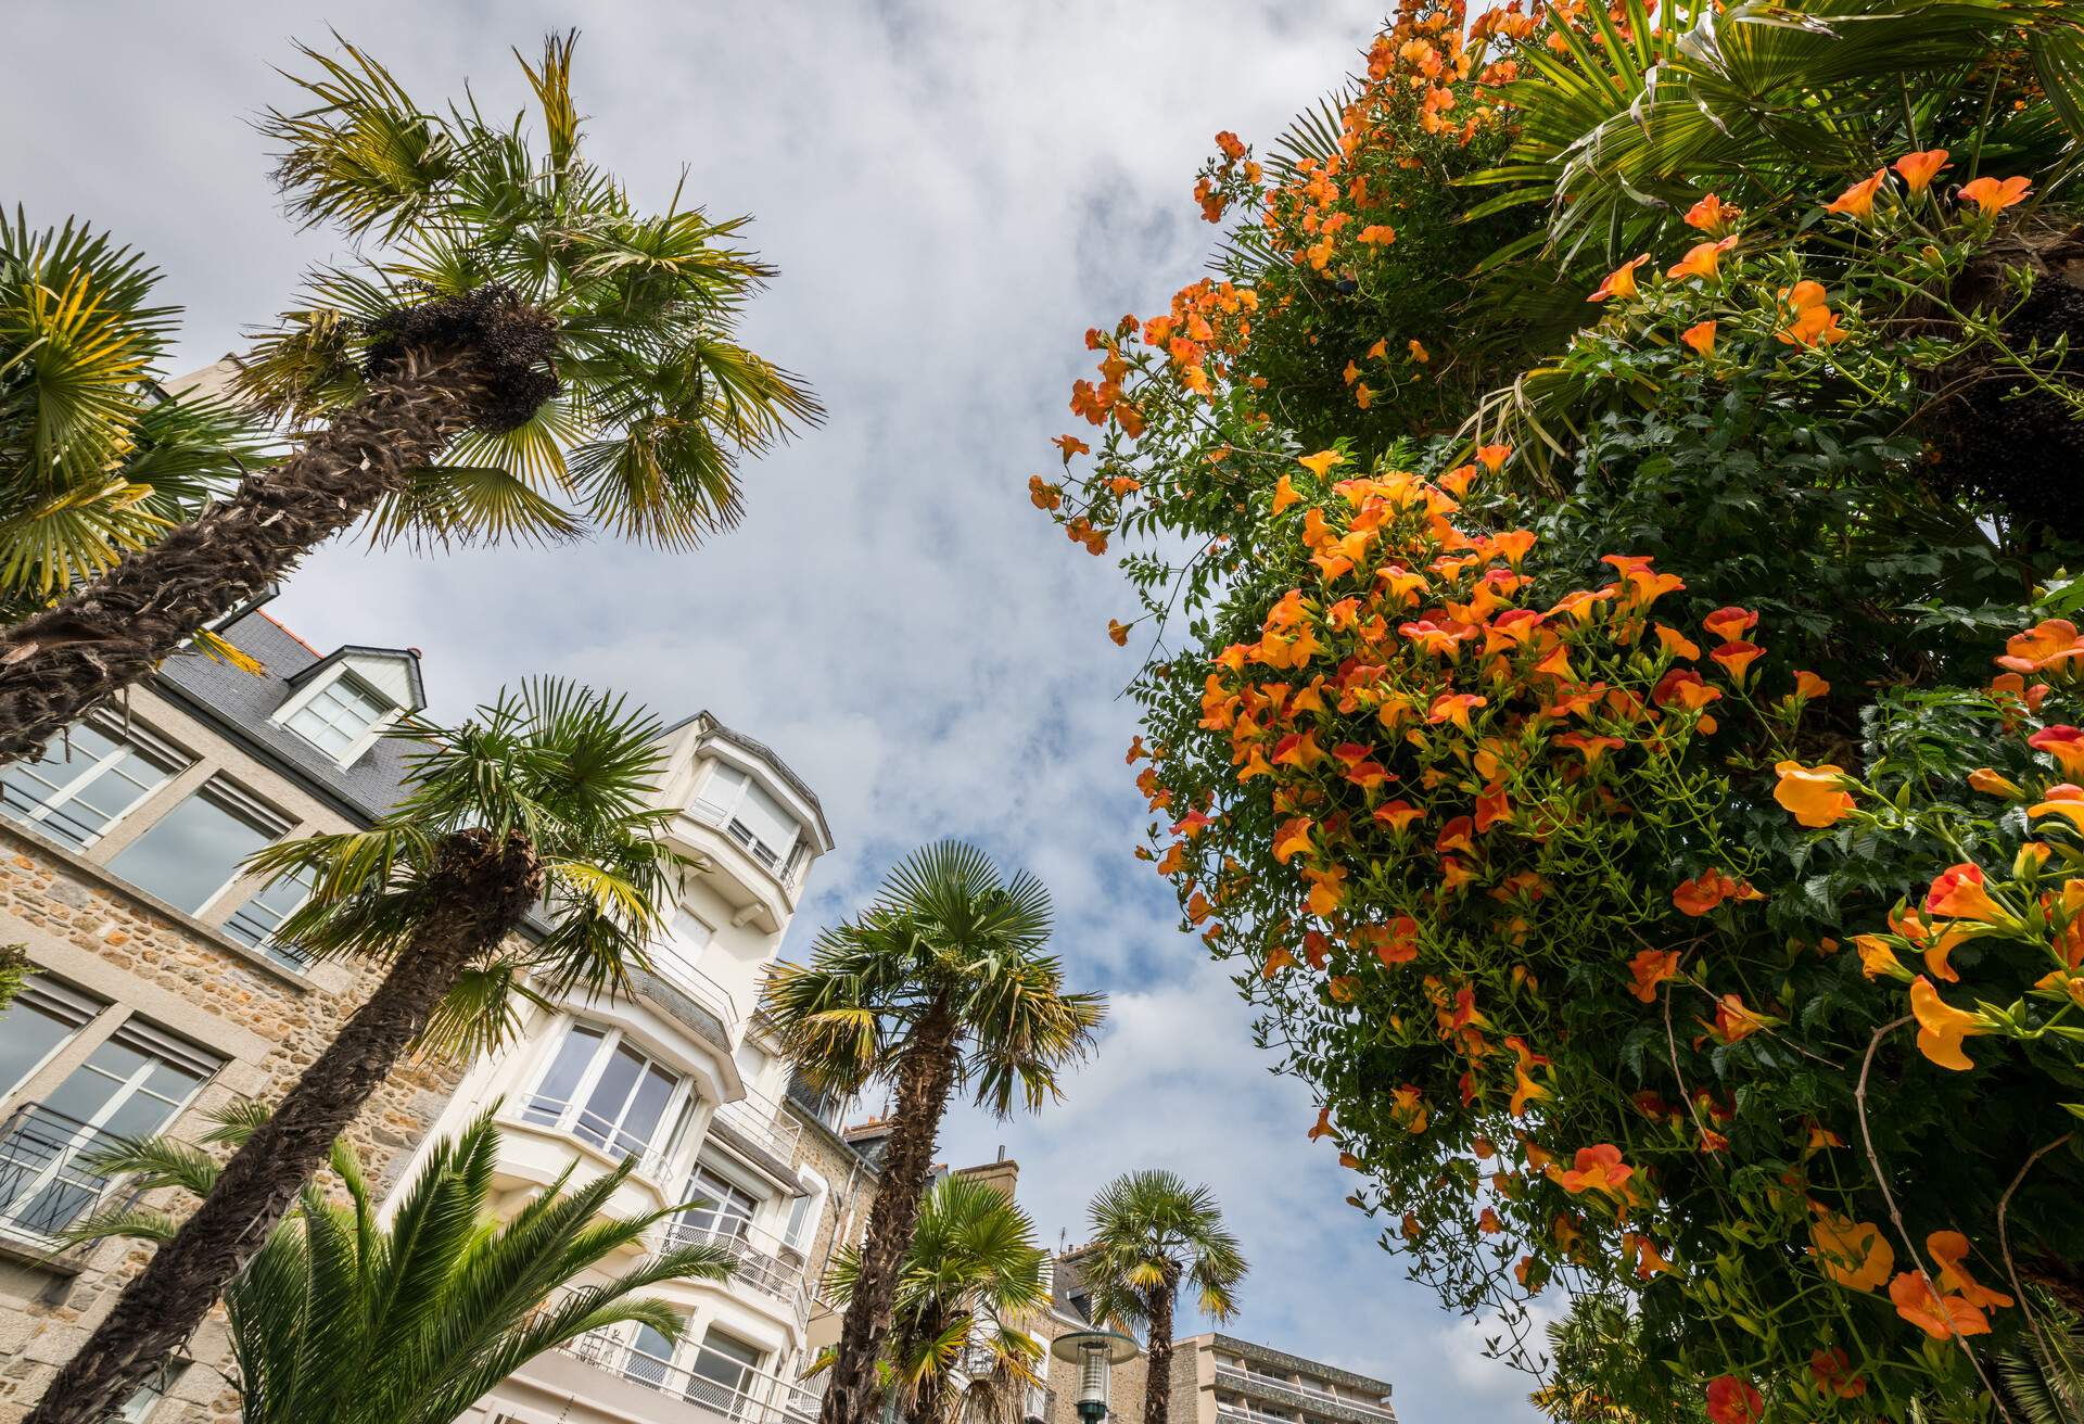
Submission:
[[333,1143],[427,1026],[456,976],[498,944],[542,892],[536,849],[469,830],[446,838],[431,909],[340,1036],[304,1070],[217,1186],[117,1297],[23,1424],[94,1424],[188,1341],[275,1230]]

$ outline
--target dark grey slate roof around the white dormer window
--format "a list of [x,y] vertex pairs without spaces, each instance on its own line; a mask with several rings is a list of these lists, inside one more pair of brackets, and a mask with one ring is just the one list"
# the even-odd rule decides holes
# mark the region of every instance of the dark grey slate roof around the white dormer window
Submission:
[[158,669],[156,690],[200,711],[260,761],[338,803],[352,817],[373,819],[398,801],[406,755],[406,744],[398,738],[379,736],[352,765],[342,767],[290,728],[269,721],[288,701],[292,680],[325,659],[258,611],[217,632],[258,659],[265,671],[254,678],[202,653],[177,653]]

